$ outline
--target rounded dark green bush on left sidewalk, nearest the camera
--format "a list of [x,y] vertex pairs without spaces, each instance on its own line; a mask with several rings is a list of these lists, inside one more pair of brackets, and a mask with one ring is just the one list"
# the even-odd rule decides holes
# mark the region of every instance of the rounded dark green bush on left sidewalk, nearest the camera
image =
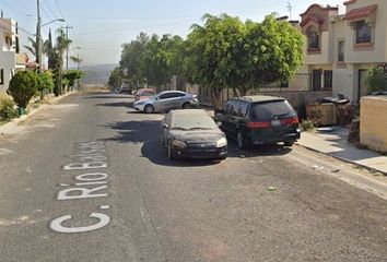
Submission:
[[31,98],[37,94],[37,86],[36,72],[20,71],[12,78],[9,92],[19,107],[26,108]]

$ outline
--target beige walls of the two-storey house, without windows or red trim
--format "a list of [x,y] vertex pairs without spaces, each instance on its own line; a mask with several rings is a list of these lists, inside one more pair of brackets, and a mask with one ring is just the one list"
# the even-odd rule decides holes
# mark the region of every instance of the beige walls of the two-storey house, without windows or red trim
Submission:
[[[360,48],[355,45],[355,21],[351,23],[344,20],[345,14],[338,15],[336,12],[329,12],[329,25],[326,27],[328,31],[321,33],[321,52],[307,53],[305,48],[304,63],[308,66],[308,73],[312,73],[314,69],[329,70],[330,68],[333,71],[333,96],[343,94],[352,102],[357,102],[360,95],[366,93],[363,82],[360,82],[360,70],[367,70],[375,64],[387,63],[387,1],[356,0],[354,3],[347,5],[347,13],[353,9],[372,4],[377,4],[377,9],[373,15],[365,19],[373,28],[371,46]],[[309,9],[309,12],[312,11],[314,9]],[[314,14],[320,15],[319,12]],[[308,24],[305,26],[308,26]],[[340,40],[345,43],[343,62],[338,61]]]

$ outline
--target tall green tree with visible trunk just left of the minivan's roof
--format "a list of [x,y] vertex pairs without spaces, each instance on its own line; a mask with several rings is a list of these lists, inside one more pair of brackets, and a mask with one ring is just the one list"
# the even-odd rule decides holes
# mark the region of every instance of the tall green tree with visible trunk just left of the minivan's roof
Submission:
[[191,83],[210,88],[212,104],[219,108],[222,90],[234,82],[232,71],[238,70],[235,48],[243,41],[243,23],[226,14],[206,14],[203,21],[203,26],[192,25],[188,35],[185,71]]

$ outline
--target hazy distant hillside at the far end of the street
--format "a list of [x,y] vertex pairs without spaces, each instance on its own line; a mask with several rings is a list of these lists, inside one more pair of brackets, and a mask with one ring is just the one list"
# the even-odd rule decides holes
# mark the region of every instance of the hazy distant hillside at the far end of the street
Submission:
[[82,84],[84,85],[106,85],[109,80],[112,70],[114,70],[117,64],[97,64],[97,66],[85,66],[81,70],[84,71],[84,76],[82,78]]

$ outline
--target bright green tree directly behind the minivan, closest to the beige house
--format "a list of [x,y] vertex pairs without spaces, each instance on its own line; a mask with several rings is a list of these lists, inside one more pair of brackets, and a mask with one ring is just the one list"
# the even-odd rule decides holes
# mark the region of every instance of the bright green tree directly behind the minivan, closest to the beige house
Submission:
[[269,15],[262,23],[246,22],[236,79],[241,95],[261,84],[286,82],[303,61],[304,36],[286,21]]

